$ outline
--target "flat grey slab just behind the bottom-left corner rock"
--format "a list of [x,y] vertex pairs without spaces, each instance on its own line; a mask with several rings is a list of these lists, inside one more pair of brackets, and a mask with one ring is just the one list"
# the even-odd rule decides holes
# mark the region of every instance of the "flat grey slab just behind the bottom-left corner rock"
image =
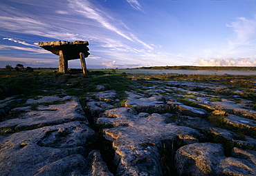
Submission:
[[[42,126],[63,124],[69,121],[84,121],[88,123],[78,99],[69,96],[68,99],[70,101],[66,101],[64,104],[38,106],[37,110],[25,110],[26,113],[21,113],[16,119],[1,121],[0,130],[31,130]],[[24,109],[18,108],[18,110]]]

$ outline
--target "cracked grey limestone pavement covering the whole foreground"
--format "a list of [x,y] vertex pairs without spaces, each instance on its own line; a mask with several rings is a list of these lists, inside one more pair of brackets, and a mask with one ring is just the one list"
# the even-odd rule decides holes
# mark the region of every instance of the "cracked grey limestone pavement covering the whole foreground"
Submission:
[[135,81],[113,90],[0,101],[1,175],[256,175],[256,90]]

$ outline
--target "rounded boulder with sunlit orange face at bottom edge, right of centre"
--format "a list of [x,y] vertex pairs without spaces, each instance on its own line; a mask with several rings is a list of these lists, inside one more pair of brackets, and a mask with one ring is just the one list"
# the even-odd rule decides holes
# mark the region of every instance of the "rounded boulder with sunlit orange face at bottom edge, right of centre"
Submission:
[[176,151],[176,170],[179,175],[217,175],[217,166],[223,158],[221,144],[189,144]]

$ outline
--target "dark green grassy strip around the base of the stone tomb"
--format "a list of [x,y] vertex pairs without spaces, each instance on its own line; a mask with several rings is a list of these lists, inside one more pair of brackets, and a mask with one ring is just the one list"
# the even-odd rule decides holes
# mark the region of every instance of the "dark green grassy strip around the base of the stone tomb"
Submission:
[[98,92],[97,85],[105,90],[116,90],[123,95],[129,90],[131,80],[123,75],[105,75],[104,72],[91,71],[89,75],[63,74],[55,71],[22,72],[0,70],[0,99],[19,95],[33,97],[36,95],[59,95],[66,92],[77,97],[86,92]]

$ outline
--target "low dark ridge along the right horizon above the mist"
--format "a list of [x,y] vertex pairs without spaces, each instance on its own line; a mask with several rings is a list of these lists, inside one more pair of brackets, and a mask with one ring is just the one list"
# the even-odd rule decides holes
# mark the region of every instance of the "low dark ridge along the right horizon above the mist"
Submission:
[[248,66],[150,66],[138,69],[157,69],[157,70],[243,70],[256,71],[256,67]]

